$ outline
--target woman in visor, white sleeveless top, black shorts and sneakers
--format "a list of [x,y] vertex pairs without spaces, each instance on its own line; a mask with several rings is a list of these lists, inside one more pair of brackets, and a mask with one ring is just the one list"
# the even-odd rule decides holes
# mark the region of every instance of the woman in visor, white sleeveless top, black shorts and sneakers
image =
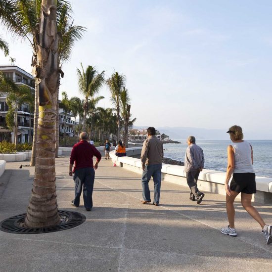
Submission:
[[[272,226],[267,225],[256,208],[252,206],[252,194],[256,193],[255,172],[253,169],[253,148],[243,140],[243,131],[239,126],[232,126],[227,131],[233,144],[227,147],[227,174],[225,181],[226,208],[228,226],[221,229],[221,233],[237,236],[234,226],[234,200],[241,193],[243,208],[255,219],[262,228],[266,243],[272,243]],[[230,181],[230,178],[232,179]],[[228,184],[230,181],[230,185]]]

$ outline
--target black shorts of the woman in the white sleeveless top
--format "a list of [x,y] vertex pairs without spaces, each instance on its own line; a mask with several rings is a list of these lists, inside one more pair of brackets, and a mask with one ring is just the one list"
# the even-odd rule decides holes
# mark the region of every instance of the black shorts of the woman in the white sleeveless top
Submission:
[[255,173],[233,173],[229,187],[237,193],[256,193]]

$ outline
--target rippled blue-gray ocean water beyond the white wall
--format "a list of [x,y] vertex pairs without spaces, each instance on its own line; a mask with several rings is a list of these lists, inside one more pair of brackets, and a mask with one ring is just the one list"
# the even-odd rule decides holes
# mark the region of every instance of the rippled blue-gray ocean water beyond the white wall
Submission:
[[[164,157],[184,162],[186,139],[181,143],[164,144]],[[253,167],[256,176],[272,178],[272,140],[247,140],[253,147]],[[229,140],[197,140],[204,152],[206,169],[225,171],[227,168],[227,146]]]

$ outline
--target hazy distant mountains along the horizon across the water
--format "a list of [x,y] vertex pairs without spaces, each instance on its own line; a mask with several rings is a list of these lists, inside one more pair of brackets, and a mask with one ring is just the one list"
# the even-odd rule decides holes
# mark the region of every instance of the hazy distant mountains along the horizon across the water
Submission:
[[[135,129],[148,128],[148,126],[134,126]],[[202,128],[190,128],[190,127],[158,127],[156,128],[161,134],[170,136],[172,140],[186,139],[188,136],[195,136],[196,139],[202,140],[227,140],[229,136],[227,130],[217,129],[202,129]],[[264,137],[264,134],[260,135],[260,132],[247,132],[246,139],[272,139],[272,133]]]

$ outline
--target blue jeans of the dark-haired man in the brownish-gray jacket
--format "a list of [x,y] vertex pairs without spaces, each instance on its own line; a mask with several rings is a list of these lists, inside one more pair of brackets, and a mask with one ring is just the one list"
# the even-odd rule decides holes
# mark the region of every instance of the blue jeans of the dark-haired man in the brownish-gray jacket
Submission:
[[161,180],[162,180],[162,164],[149,164],[145,165],[145,170],[142,171],[141,185],[142,185],[142,198],[144,201],[150,201],[150,190],[148,182],[151,177],[154,181],[154,204],[159,204],[160,202],[160,192],[161,192]]

